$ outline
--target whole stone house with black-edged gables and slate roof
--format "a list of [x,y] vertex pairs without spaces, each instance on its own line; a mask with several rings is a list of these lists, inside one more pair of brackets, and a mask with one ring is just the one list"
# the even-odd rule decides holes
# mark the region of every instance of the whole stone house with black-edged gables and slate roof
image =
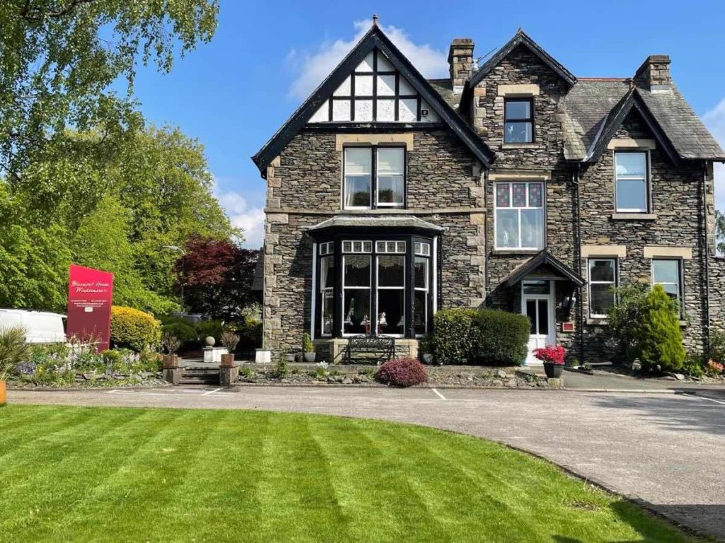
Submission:
[[455,39],[450,77],[426,80],[373,22],[254,155],[265,348],[308,332],[336,361],[370,334],[415,355],[439,308],[489,306],[529,316],[530,349],[600,361],[611,287],[659,283],[706,349],[725,152],[669,57],[577,78],[519,30],[474,58]]

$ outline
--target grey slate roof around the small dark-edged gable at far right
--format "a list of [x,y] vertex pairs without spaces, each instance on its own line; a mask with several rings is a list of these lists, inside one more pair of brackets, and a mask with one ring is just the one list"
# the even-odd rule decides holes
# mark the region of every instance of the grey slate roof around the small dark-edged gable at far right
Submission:
[[[632,90],[683,159],[725,159],[725,152],[700,117],[687,104],[674,83],[670,90],[651,92],[634,87],[629,79],[580,78],[560,102],[565,130],[564,156],[584,160],[595,146]],[[618,107],[620,106],[620,107]]]

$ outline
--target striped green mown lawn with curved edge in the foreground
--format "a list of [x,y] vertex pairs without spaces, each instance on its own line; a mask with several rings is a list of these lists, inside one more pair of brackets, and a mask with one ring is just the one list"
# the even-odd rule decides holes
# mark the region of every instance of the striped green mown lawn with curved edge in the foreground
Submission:
[[8,405],[0,541],[689,539],[542,460],[419,426]]

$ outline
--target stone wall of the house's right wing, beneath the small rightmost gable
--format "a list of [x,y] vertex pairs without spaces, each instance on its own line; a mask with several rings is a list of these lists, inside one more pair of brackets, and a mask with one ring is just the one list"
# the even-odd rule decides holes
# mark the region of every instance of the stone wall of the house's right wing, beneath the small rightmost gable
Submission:
[[[653,138],[632,112],[615,138]],[[705,254],[703,246],[702,165],[681,162],[674,166],[660,149],[650,151],[652,214],[656,219],[615,219],[614,151],[605,151],[600,160],[581,176],[581,236],[584,245],[624,245],[626,256],[618,259],[619,284],[652,281],[652,260],[645,258],[645,246],[692,248],[692,258],[684,259],[684,308],[689,325],[683,328],[686,348],[701,350],[705,332]],[[581,260],[584,277],[587,259]],[[582,292],[585,314],[589,314],[588,292]],[[606,358],[602,350],[601,327],[586,327],[589,358]]]

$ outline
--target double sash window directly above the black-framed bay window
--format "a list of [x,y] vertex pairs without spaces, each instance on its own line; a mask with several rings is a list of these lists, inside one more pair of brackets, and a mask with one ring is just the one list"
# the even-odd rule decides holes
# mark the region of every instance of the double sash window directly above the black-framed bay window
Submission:
[[344,148],[344,209],[405,205],[404,147]]

